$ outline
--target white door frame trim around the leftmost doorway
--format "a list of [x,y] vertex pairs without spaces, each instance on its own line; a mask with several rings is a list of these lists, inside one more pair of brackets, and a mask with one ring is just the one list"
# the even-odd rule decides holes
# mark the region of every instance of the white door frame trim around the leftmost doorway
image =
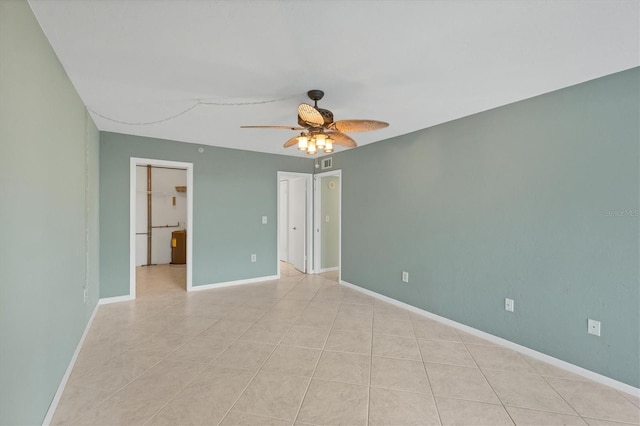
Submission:
[[131,157],[129,163],[129,298],[136,298],[136,166],[158,166],[186,169],[187,172],[187,291],[193,276],[193,163]]

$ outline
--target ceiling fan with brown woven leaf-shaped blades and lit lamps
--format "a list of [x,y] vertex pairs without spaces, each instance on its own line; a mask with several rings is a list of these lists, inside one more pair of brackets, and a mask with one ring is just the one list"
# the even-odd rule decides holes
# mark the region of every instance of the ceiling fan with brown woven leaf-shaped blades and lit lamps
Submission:
[[314,155],[322,150],[333,152],[334,145],[347,148],[358,146],[356,141],[345,133],[367,132],[385,128],[389,123],[376,120],[338,120],[333,121],[333,113],[328,109],[318,108],[318,101],[324,96],[322,90],[309,90],[307,96],[314,104],[298,105],[299,126],[240,126],[243,129],[287,129],[302,130],[299,136],[294,136],[285,142],[284,147],[298,145],[298,150]]

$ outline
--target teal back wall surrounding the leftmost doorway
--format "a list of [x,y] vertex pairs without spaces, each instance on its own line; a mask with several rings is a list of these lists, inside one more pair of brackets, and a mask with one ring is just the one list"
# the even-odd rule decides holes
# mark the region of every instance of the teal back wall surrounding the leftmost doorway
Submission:
[[312,160],[102,132],[101,297],[129,294],[130,157],[194,165],[194,286],[276,275],[277,172],[312,173]]

